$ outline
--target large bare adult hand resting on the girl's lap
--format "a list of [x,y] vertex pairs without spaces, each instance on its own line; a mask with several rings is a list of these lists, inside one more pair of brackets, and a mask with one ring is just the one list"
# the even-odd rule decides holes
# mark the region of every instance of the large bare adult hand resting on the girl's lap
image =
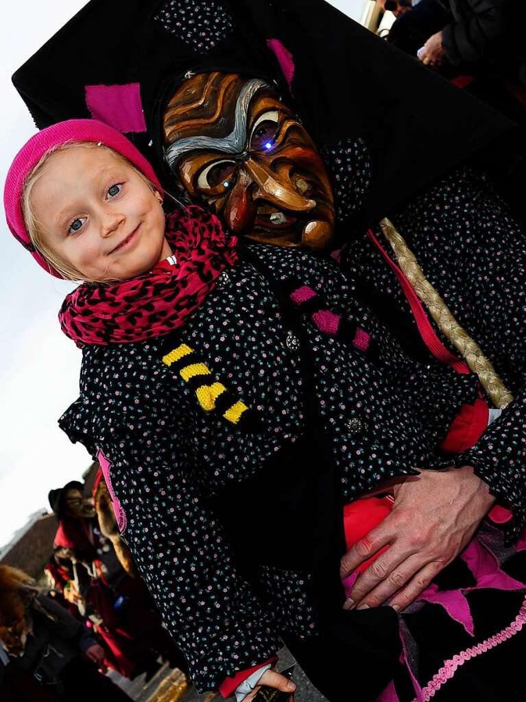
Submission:
[[[346,578],[389,545],[358,576],[344,609],[409,607],[440,571],[466,548],[495,498],[471,466],[421,470],[395,487],[392,512],[341,559]],[[393,597],[394,595],[394,597]]]

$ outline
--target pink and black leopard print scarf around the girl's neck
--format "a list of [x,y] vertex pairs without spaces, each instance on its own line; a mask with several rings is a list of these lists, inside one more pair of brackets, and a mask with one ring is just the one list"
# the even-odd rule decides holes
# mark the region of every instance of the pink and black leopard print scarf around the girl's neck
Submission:
[[82,284],[64,300],[58,319],[77,346],[143,341],[182,326],[237,263],[236,237],[196,205],[166,216],[166,239],[177,263],[108,285]]

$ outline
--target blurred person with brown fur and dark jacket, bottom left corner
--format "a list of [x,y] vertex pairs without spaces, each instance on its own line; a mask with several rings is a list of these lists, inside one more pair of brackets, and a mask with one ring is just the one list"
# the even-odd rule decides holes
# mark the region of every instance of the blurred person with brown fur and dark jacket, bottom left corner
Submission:
[[105,656],[102,647],[84,625],[42,595],[29,576],[1,565],[0,592],[0,642],[7,680],[11,667],[16,671],[10,684],[27,689],[29,683],[22,682],[30,677],[33,686],[37,682],[43,688],[44,699],[48,694],[53,702],[130,700],[99,673]]

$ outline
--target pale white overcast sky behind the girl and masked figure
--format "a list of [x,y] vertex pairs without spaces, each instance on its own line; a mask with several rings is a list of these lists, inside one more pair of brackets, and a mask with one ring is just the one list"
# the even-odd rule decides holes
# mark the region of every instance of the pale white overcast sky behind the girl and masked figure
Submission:
[[[331,0],[360,20],[366,0]],[[85,0],[3,2],[0,10],[0,182],[35,127],[11,74],[86,4]],[[74,285],[52,278],[8,232],[0,213],[0,548],[47,494],[79,479],[90,458],[57,419],[77,398],[81,354],[57,313]]]

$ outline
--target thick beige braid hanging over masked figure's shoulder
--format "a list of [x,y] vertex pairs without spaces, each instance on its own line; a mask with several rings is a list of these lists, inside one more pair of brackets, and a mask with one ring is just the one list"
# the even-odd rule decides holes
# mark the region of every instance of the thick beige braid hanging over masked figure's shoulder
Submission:
[[504,409],[513,400],[513,395],[497,375],[492,363],[485,357],[478,343],[456,321],[444,300],[428,282],[414,253],[409,249],[401,234],[397,232],[393,223],[385,218],[381,220],[380,226],[395,253],[398,265],[411,283],[419,300],[428,308],[440,331],[461,353],[469,369],[478,375],[480,384],[491,397],[494,406],[498,409]]

